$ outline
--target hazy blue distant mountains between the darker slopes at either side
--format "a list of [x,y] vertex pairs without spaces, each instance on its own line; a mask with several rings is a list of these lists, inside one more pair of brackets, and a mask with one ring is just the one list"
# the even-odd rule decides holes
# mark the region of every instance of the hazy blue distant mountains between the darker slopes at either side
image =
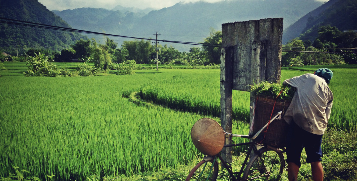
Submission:
[[[150,11],[145,16],[138,12],[126,10],[124,12],[119,10],[120,6],[117,6],[119,12],[115,11],[117,15],[112,15],[110,20],[110,10],[105,9],[79,8],[54,12],[75,29],[105,31],[109,34],[131,35],[139,38],[154,37],[153,34],[158,32],[160,40],[202,42],[205,37],[210,35],[211,27],[221,30],[223,23],[283,17],[284,27],[288,27],[320,5],[322,2],[315,0],[180,2],[171,7]],[[103,14],[98,14],[98,12]],[[119,42],[119,44],[121,43]],[[192,45],[167,44],[174,46],[179,51],[188,51],[192,47]]]

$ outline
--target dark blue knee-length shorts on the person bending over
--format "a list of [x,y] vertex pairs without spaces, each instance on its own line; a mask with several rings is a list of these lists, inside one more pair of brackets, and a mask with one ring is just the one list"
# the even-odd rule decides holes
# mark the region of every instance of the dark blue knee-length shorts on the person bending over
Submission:
[[322,135],[307,132],[292,121],[286,137],[286,161],[293,162],[300,167],[301,152],[304,147],[307,156],[307,163],[322,161],[321,142]]

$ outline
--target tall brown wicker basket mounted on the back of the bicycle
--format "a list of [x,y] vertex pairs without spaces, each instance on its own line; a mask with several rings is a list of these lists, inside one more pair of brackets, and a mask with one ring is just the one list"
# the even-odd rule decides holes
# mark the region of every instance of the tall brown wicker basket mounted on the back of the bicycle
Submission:
[[[277,100],[275,102],[273,97],[258,96],[254,111],[253,132],[258,132],[263,126],[267,124],[267,122],[270,120],[272,112],[274,115],[277,112],[282,111],[282,115],[284,115],[285,111],[290,105],[290,102],[291,100]],[[266,130],[267,132],[265,133]],[[276,119],[262,131],[260,138],[263,139],[262,142],[267,145],[274,147],[285,147],[287,131],[288,124],[285,122],[285,120]]]

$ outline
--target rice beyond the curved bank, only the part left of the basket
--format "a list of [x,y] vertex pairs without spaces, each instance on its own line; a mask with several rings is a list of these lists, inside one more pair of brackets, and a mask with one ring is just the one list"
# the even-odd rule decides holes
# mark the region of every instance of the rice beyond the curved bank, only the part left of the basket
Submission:
[[[175,70],[169,79],[142,87],[141,94],[173,109],[220,117],[220,70]],[[248,120],[249,95],[233,91],[233,119]]]

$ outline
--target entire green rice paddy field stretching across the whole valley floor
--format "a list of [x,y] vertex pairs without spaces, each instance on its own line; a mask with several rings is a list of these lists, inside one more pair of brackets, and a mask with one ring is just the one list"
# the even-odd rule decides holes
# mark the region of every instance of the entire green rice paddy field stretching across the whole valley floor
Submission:
[[[202,117],[220,121],[220,69],[24,77],[25,63],[2,65],[0,178],[14,173],[13,167],[41,180],[175,168],[201,156],[191,142],[192,125]],[[325,67],[334,72],[328,126],[356,132],[357,66]],[[283,69],[282,80],[317,68]],[[134,91],[159,106],[134,104],[125,96]],[[248,92],[233,91],[233,133],[248,132],[249,99]]]

